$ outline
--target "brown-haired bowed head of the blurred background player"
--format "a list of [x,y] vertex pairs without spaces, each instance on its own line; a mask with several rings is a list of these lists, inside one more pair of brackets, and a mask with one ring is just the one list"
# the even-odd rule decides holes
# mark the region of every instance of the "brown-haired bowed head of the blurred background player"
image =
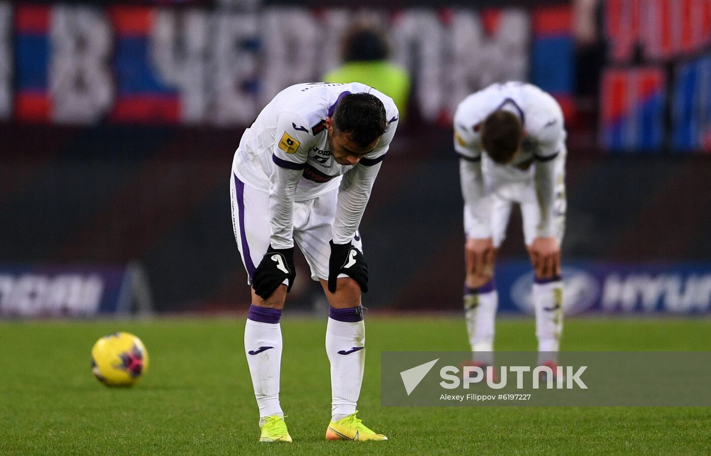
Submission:
[[521,145],[523,126],[513,112],[492,112],[481,125],[481,145],[493,161],[507,164]]

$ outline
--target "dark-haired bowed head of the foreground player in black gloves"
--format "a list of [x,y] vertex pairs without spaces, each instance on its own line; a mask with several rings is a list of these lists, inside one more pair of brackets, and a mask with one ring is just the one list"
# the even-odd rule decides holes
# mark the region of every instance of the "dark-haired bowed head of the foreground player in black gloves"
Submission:
[[386,128],[385,107],[378,97],[369,93],[346,95],[333,116],[326,117],[333,159],[346,165],[358,163],[375,149]]

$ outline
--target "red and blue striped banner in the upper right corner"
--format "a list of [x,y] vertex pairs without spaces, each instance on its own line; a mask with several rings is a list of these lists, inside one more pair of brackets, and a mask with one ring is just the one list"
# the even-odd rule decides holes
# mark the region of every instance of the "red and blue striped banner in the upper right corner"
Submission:
[[603,16],[602,148],[711,153],[711,0],[604,0]]

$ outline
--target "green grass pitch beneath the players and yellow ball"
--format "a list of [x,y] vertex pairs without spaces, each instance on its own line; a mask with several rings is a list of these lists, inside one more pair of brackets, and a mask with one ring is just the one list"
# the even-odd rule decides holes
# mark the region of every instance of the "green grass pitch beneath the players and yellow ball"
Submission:
[[[390,441],[324,440],[331,410],[326,319],[287,316],[282,407],[292,445],[257,443],[244,317],[0,322],[0,455],[711,453],[711,408],[381,407],[380,351],[465,351],[464,322],[377,315],[366,322],[358,416]],[[107,388],[90,372],[94,341],[119,330],[141,337],[151,356],[134,388]],[[568,319],[562,348],[707,351],[711,320]],[[500,319],[496,349],[535,349],[532,319]]]

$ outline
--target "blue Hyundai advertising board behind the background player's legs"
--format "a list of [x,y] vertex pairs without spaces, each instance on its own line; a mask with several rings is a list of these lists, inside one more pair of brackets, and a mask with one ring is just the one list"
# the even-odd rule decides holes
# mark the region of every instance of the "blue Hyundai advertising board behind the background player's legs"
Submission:
[[[707,314],[711,263],[565,262],[563,312]],[[528,261],[496,266],[500,312],[533,314],[533,272]]]

